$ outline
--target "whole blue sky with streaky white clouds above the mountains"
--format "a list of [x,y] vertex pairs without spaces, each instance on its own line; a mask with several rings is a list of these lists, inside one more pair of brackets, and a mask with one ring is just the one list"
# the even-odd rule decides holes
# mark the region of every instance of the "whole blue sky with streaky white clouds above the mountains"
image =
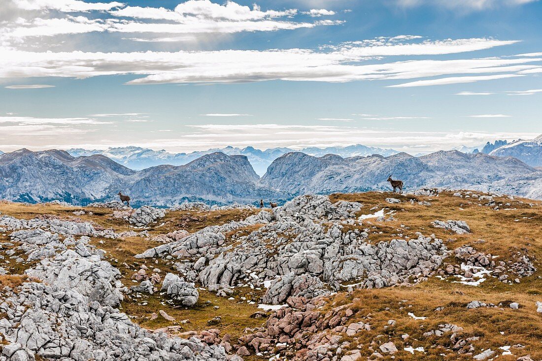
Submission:
[[542,1],[0,0],[0,150],[542,133]]

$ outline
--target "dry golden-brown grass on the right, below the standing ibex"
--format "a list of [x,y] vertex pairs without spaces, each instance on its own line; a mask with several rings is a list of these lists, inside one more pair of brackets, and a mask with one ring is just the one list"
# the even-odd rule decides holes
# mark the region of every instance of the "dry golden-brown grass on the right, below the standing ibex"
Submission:
[[[438,238],[446,241],[449,249],[471,244],[476,249],[499,255],[498,259],[506,261],[518,250],[527,250],[530,257],[538,260],[542,257],[542,205],[538,201],[507,197],[494,197],[497,203],[511,203],[501,208],[517,208],[515,210],[495,211],[486,206],[478,205],[476,198],[460,198],[452,196],[453,192],[444,192],[438,197],[416,196],[420,201],[429,201],[431,206],[417,203],[388,204],[386,197],[392,194],[368,192],[364,194],[335,194],[331,196],[332,202],[340,199],[357,201],[365,205],[362,214],[370,214],[372,207],[389,208],[395,210],[395,221],[376,222],[369,219],[363,227],[371,228],[372,242],[389,241],[397,237],[399,232],[410,237],[417,237],[416,231],[424,235],[434,233]],[[396,198],[410,199],[409,195]],[[469,204],[468,202],[472,202]],[[519,203],[524,202],[524,203]],[[482,204],[487,201],[482,201]],[[533,206],[528,203],[532,203]],[[462,208],[462,209],[460,209]],[[526,217],[526,218],[525,218]],[[433,228],[430,222],[434,220],[463,220],[469,224],[472,234],[456,235],[449,231]],[[516,221],[518,220],[518,221]],[[370,223],[372,224],[369,224]],[[401,224],[405,227],[402,228]],[[382,234],[378,232],[382,231]],[[474,243],[480,239],[483,243]],[[450,353],[446,357],[440,356],[444,352],[440,346],[450,346],[449,336],[441,338],[424,338],[423,333],[435,330],[439,324],[455,324],[464,328],[464,334],[481,336],[474,345],[477,350],[491,348],[500,354],[500,346],[522,344],[524,349],[511,349],[514,356],[499,356],[500,360],[515,360],[518,356],[530,353],[534,360],[542,359],[542,314],[536,312],[536,301],[542,301],[542,279],[540,276],[540,263],[535,262],[538,270],[534,275],[521,279],[521,283],[507,285],[494,278],[489,278],[479,287],[451,283],[450,280],[432,278],[427,282],[409,288],[386,288],[378,290],[357,290],[352,295],[340,294],[333,302],[341,305],[354,302],[360,311],[358,315],[371,313],[372,331],[365,333],[360,343],[370,343],[379,333],[391,334],[397,346],[401,345],[401,335],[408,333],[409,339],[403,346],[422,346],[427,354],[415,352],[411,355],[402,351],[397,354],[401,360],[456,360],[472,359],[472,356],[458,356]],[[408,300],[399,305],[401,300]],[[473,300],[484,301],[498,305],[500,302],[519,302],[520,309],[512,310],[505,306],[500,308],[477,308],[467,310],[466,304]],[[508,303],[505,303],[507,305]],[[411,307],[408,307],[411,305]],[[403,310],[399,308],[403,306]],[[331,306],[330,306],[331,307]],[[444,307],[443,311],[435,311],[436,307]],[[414,320],[408,312],[417,317],[427,317],[425,320]],[[395,327],[384,327],[388,320],[397,321]],[[501,334],[500,332],[504,332]],[[398,347],[399,348],[399,347]],[[363,350],[363,349],[362,349]],[[500,351],[500,352],[499,352]],[[370,352],[367,354],[369,356]],[[396,358],[396,359],[397,359]],[[384,359],[389,359],[389,356]]]

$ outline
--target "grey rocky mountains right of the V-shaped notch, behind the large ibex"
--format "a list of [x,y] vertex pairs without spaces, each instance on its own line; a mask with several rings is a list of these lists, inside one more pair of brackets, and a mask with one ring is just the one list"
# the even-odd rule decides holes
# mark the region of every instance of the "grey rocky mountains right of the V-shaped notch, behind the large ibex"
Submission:
[[498,186],[516,195],[538,195],[541,187],[529,182],[513,183],[508,180],[510,177],[542,178],[542,173],[518,159],[482,153],[439,151],[421,157],[399,153],[390,157],[328,155],[317,158],[294,152],[275,160],[260,184],[290,194],[329,194],[389,189],[386,182],[389,175],[401,179],[408,189],[443,187],[487,191]]

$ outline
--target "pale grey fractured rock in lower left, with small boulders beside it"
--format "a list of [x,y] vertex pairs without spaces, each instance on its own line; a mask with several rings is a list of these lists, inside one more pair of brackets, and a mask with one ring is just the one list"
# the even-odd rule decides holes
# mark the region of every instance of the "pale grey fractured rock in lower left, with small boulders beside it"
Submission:
[[[63,361],[227,360],[221,345],[145,330],[114,308],[126,288],[118,281],[119,270],[88,244],[87,235],[95,233],[90,224],[5,216],[0,220],[4,228],[14,230],[10,237],[20,244],[17,248],[30,260],[40,260],[25,271],[32,278],[17,292],[3,289],[0,333],[7,345],[1,361],[37,356]],[[193,285],[181,285],[174,293],[193,297]],[[152,287],[152,282],[144,281],[143,287]]]

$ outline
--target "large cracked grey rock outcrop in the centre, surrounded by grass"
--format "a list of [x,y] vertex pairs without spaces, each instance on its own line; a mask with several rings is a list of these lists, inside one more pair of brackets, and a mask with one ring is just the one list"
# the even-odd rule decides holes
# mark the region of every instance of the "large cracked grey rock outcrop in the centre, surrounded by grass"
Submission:
[[[206,227],[136,257],[174,256],[193,267],[183,269],[190,281],[210,291],[243,285],[267,285],[262,302],[280,304],[289,296],[313,298],[341,287],[381,288],[422,281],[448,256],[442,240],[419,236],[371,244],[355,224],[363,205],[327,196],[300,196],[244,221]],[[248,236],[226,242],[226,233],[252,225]],[[269,253],[273,249],[273,253]]]

